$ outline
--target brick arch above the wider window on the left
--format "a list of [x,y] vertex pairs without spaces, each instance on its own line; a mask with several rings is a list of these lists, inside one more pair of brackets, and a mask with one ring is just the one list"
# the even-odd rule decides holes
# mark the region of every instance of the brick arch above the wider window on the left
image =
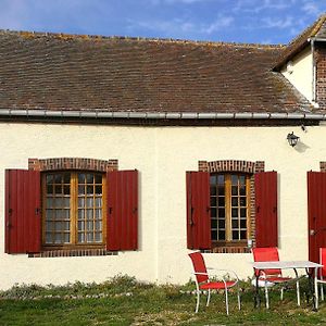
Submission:
[[28,159],[28,170],[55,171],[55,170],[83,170],[109,172],[118,170],[117,160],[96,160],[85,158],[53,158]]

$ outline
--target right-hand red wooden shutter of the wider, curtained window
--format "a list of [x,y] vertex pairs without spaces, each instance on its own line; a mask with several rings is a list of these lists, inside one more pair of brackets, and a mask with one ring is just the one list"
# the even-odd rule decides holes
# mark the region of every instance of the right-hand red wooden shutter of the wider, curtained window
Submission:
[[108,172],[108,250],[138,248],[138,171]]

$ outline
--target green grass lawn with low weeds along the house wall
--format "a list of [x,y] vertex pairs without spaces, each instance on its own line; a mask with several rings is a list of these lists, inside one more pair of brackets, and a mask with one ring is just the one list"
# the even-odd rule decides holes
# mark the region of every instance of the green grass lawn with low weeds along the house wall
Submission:
[[325,325],[326,302],[312,311],[302,293],[296,305],[296,291],[271,291],[271,309],[253,308],[253,289],[242,283],[242,309],[230,293],[230,315],[225,314],[223,293],[214,293],[209,308],[202,296],[195,314],[196,297],[187,293],[195,284],[155,286],[129,277],[106,283],[63,287],[21,286],[0,292],[0,325]]

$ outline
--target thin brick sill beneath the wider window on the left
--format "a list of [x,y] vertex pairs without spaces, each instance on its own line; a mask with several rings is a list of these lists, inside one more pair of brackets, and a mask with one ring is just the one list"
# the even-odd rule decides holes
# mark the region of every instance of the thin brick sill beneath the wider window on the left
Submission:
[[117,251],[106,249],[64,249],[46,250],[39,253],[28,253],[28,258],[59,258],[59,256],[89,256],[89,255],[117,255]]

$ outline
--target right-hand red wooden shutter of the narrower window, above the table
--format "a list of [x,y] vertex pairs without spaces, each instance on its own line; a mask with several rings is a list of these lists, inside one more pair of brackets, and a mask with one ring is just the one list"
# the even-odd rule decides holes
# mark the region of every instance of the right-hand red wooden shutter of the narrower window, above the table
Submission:
[[277,247],[277,173],[254,175],[255,246]]

